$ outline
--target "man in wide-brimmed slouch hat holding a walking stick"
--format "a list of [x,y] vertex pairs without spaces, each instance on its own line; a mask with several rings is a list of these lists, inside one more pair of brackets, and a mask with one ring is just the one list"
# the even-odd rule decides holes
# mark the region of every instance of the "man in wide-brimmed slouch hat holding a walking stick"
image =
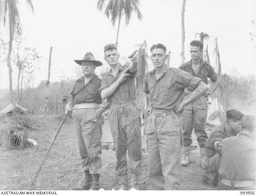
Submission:
[[[99,190],[102,169],[102,98],[99,92],[101,79],[94,74],[102,62],[95,60],[94,54],[87,52],[82,60],[74,60],[82,68],[82,78],[78,79],[71,92],[72,100],[66,106],[72,110],[78,133],[78,147],[82,158],[84,182],[82,190]],[[104,108],[103,108],[104,109]]]

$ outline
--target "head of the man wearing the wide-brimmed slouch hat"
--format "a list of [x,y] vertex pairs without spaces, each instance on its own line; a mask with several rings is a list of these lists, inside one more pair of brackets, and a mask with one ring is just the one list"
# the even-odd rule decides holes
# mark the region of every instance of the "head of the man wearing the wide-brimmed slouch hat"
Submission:
[[94,54],[91,52],[87,52],[82,60],[74,60],[74,62],[81,66],[82,74],[87,77],[90,77],[94,74],[97,66],[102,66],[102,62],[95,60]]

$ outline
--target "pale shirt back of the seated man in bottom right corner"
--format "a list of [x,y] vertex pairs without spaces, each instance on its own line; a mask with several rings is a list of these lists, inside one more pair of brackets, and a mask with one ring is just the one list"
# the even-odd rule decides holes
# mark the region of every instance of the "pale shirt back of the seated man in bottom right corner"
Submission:
[[218,173],[230,181],[256,180],[256,140],[241,133],[223,139]]

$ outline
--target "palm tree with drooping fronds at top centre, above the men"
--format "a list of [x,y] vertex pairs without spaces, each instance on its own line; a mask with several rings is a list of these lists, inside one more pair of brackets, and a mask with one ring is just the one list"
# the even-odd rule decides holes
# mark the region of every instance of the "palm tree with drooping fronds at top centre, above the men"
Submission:
[[[103,10],[106,0],[98,0],[97,8],[98,10]],[[134,12],[137,14],[139,20],[142,19],[142,13],[138,9],[139,0],[109,0],[106,8],[106,17],[110,19],[112,25],[114,26],[118,19],[118,30],[116,35],[116,46],[118,47],[118,36],[121,24],[122,16],[126,17],[126,25],[130,22],[130,15]]]

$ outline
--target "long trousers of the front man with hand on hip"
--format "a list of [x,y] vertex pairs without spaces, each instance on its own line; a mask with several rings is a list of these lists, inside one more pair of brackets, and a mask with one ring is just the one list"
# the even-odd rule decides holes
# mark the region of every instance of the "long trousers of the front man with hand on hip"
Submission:
[[150,114],[146,121],[147,190],[178,190],[181,170],[182,123],[174,112]]

